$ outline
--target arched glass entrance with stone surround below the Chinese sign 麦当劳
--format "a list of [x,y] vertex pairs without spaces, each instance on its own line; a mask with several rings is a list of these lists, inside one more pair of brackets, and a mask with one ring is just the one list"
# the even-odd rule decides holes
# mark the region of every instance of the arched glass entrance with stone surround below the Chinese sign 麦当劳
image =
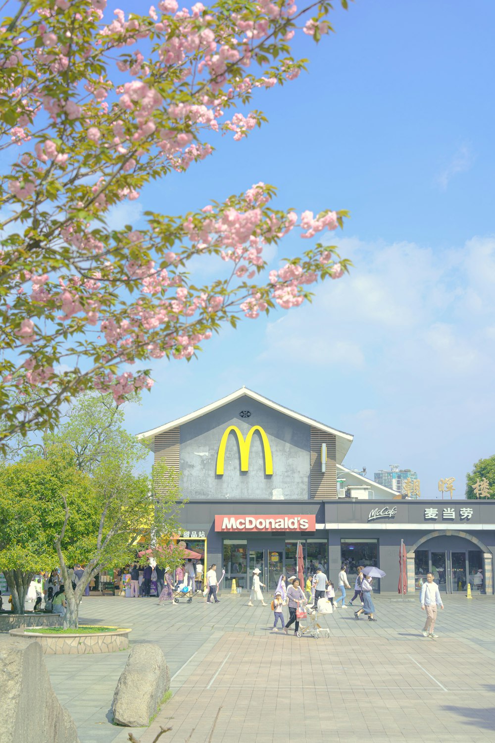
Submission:
[[421,588],[432,572],[441,591],[471,591],[493,594],[493,555],[476,536],[465,531],[432,531],[417,540],[407,552],[407,592]]

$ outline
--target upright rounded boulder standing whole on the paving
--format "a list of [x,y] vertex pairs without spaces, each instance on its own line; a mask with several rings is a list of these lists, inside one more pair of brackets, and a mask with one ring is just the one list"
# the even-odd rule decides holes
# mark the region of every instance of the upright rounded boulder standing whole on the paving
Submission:
[[160,646],[134,645],[114,693],[114,721],[128,727],[148,725],[169,689],[170,671]]

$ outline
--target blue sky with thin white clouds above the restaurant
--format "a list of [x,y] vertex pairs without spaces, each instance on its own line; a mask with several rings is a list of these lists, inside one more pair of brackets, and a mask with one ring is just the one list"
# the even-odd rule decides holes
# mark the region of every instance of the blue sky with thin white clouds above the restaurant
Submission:
[[[298,39],[308,74],[258,94],[267,126],[218,137],[212,158],[143,191],[131,215],[139,226],[142,209],[183,213],[265,181],[281,207],[350,210],[331,235],[350,276],[312,305],[226,329],[191,363],[155,363],[127,425],[246,385],[353,433],[348,467],[410,467],[424,497],[454,476],[462,496],[473,462],[495,453],[495,4],[356,0],[332,22],[318,46]],[[307,247],[290,237],[272,267]]]

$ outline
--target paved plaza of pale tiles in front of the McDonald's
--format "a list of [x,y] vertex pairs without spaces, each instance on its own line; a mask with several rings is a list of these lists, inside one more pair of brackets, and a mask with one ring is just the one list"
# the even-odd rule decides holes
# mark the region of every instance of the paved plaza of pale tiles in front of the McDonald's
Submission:
[[[248,594],[249,595],[249,594]],[[494,597],[445,597],[439,639],[422,637],[419,601],[374,598],[378,622],[353,610],[324,617],[330,639],[270,632],[269,607],[246,594],[217,605],[158,606],[156,599],[89,597],[82,623],[132,629],[131,642],[160,645],[173,697],[148,730],[166,743],[495,743]],[[122,743],[111,701],[128,651],[45,656],[53,687],[81,743]]]

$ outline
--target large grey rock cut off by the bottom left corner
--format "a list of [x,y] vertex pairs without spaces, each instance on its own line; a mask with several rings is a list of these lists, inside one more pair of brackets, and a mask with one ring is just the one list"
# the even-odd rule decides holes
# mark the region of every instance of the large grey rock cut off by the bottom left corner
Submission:
[[0,700],[0,743],[79,743],[38,643],[0,636]]

